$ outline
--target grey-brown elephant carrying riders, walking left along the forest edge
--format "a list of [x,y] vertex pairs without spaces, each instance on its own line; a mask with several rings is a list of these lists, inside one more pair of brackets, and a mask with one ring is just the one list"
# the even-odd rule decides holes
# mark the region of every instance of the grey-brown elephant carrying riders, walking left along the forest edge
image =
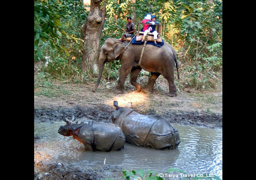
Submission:
[[[131,84],[136,87],[138,92],[141,90],[147,93],[152,92],[155,80],[157,80],[157,78],[162,74],[169,84],[169,93],[167,95],[170,97],[177,96],[174,84],[174,69],[176,64],[178,74],[178,64],[174,48],[166,42],[160,48],[147,44],[143,51],[140,66],[138,66],[142,49],[143,45],[135,45],[127,40],[119,42],[119,39],[111,37],[107,38],[104,45],[101,47],[98,62],[98,80],[93,92],[95,92],[99,86],[105,63],[113,60],[120,60],[121,68],[116,89],[117,93],[123,93],[123,85],[126,77],[131,72]],[[148,84],[145,88],[142,88],[142,84],[136,82],[139,72],[142,69],[151,72],[151,77],[149,78]],[[180,79],[179,74],[178,79]]]

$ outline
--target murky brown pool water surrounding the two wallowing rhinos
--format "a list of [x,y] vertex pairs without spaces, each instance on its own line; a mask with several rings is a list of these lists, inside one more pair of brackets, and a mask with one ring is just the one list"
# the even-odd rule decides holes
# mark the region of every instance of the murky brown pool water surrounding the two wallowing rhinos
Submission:
[[178,149],[155,150],[126,143],[121,151],[90,152],[72,136],[58,134],[62,124],[58,121],[34,124],[34,135],[40,137],[37,141],[46,142],[42,151],[73,166],[88,169],[108,166],[108,172],[104,171],[106,178],[111,178],[112,173],[122,177],[122,169],[139,168],[158,173],[178,168],[189,174],[213,173],[222,178],[222,129],[173,124],[180,134]]

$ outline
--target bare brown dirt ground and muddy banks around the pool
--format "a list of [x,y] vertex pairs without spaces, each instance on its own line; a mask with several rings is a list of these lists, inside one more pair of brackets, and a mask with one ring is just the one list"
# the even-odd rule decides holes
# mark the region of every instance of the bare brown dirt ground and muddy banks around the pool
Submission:
[[[222,128],[222,86],[211,92],[195,90],[177,90],[177,97],[166,95],[168,86],[165,79],[156,82],[153,93],[134,91],[128,83],[124,94],[116,94],[116,82],[100,84],[95,93],[94,84],[64,84],[54,82],[57,95],[47,97],[43,86],[34,89],[34,123],[44,121],[61,121],[63,115],[71,117],[87,117],[96,121],[111,123],[111,115],[117,101],[120,107],[132,102],[132,108],[141,114],[161,115],[171,123]],[[35,84],[36,85],[36,84]],[[59,92],[59,94],[58,94]],[[104,179],[102,171],[108,169],[86,170],[59,163],[48,154],[41,152],[44,143],[38,142],[40,137],[34,137],[34,179],[40,180],[98,180]],[[47,142],[45,142],[47,143]],[[113,177],[113,179],[116,179]]]

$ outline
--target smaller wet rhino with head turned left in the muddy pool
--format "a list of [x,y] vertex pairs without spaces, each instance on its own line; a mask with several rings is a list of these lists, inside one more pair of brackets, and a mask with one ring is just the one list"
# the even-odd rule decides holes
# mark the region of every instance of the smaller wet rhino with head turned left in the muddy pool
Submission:
[[73,136],[84,144],[85,150],[89,151],[117,151],[125,144],[125,135],[116,124],[96,122],[93,120],[75,121],[62,117],[67,124],[60,126],[58,133],[63,136]]

